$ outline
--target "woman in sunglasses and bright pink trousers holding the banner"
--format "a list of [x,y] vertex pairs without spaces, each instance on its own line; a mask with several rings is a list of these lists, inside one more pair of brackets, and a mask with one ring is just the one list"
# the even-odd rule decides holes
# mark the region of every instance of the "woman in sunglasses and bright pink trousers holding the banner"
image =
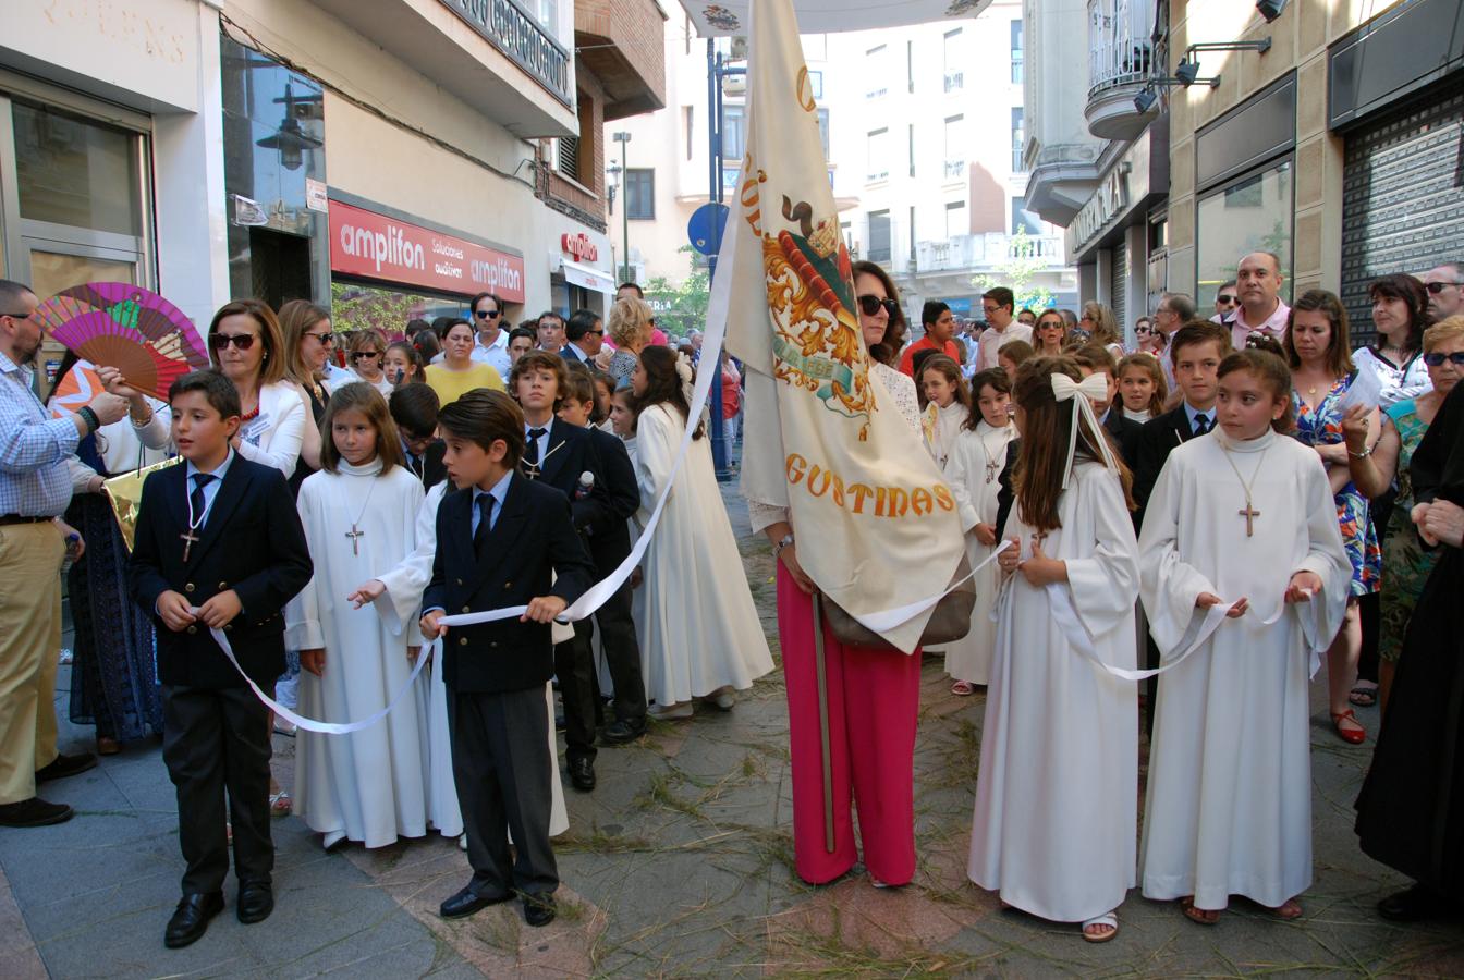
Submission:
[[[915,382],[890,367],[903,338],[899,293],[884,269],[854,263],[859,328],[870,348],[870,373],[878,377],[922,439]],[[799,547],[786,508],[750,499],[752,529],[773,543],[777,556],[777,635],[788,687],[789,743],[793,772],[793,863],[813,885],[846,873],[858,860],[851,796],[859,819],[864,866],[875,888],[909,883],[915,873],[915,724],[919,712],[921,655],[892,654],[845,645],[824,629],[829,674],[829,718],[836,807],[833,853],[824,844],[823,764],[814,680],[814,582],[798,563]]]

